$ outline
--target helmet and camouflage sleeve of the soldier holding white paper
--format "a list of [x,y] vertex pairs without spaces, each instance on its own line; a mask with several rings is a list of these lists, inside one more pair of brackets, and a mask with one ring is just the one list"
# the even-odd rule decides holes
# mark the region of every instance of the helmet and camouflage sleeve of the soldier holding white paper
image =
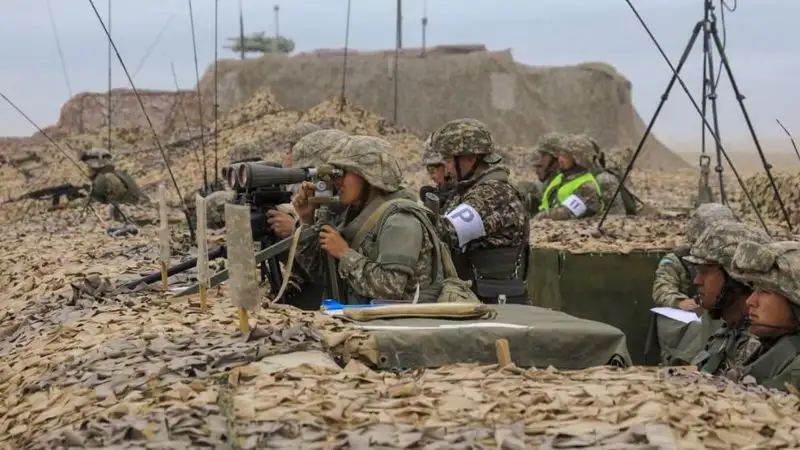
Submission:
[[[707,203],[692,211],[686,229],[686,239],[691,245],[713,223],[735,222],[733,211],[720,203]],[[656,268],[653,281],[653,303],[656,306],[677,308],[682,300],[694,298],[694,274],[681,259],[689,255],[690,246],[679,246],[667,253]]]

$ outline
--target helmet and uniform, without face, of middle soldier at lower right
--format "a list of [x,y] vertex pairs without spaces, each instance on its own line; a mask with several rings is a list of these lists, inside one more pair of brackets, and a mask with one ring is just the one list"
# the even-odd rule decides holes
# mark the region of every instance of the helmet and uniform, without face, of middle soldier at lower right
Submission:
[[[689,256],[683,258],[690,264],[719,265],[725,270],[725,284],[716,304],[709,310],[712,319],[721,318],[722,312],[734,305],[731,302],[738,300],[735,296],[742,295],[729,291],[732,278],[728,270],[737,245],[745,240],[767,243],[771,239],[762,230],[742,223],[719,222],[708,226],[692,245]],[[758,339],[749,333],[748,326],[746,316],[736,323],[723,323],[708,338],[705,348],[692,360],[692,364],[713,375],[725,374],[731,368],[742,366],[759,349]]]

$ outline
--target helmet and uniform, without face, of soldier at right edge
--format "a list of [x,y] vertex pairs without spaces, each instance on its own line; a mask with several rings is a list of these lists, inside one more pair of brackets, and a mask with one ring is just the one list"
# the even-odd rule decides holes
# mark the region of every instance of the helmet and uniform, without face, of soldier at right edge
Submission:
[[790,302],[794,327],[779,336],[759,339],[759,352],[727,374],[734,381],[749,375],[768,388],[800,389],[800,243],[740,242],[729,269],[731,276],[756,289],[774,292]]

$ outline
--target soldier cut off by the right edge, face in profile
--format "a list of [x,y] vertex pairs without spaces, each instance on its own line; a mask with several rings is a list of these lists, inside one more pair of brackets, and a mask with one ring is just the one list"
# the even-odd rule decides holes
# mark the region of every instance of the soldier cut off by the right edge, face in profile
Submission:
[[800,244],[794,241],[739,243],[729,272],[749,283],[750,332],[758,353],[726,375],[734,381],[750,375],[768,388],[800,389]]

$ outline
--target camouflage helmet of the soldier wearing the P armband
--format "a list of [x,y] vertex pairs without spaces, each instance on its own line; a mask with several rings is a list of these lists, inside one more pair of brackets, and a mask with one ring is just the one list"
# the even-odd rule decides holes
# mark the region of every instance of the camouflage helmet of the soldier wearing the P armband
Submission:
[[489,164],[503,159],[495,153],[489,127],[475,119],[456,119],[442,125],[431,135],[431,147],[443,158],[484,155],[483,160]]

